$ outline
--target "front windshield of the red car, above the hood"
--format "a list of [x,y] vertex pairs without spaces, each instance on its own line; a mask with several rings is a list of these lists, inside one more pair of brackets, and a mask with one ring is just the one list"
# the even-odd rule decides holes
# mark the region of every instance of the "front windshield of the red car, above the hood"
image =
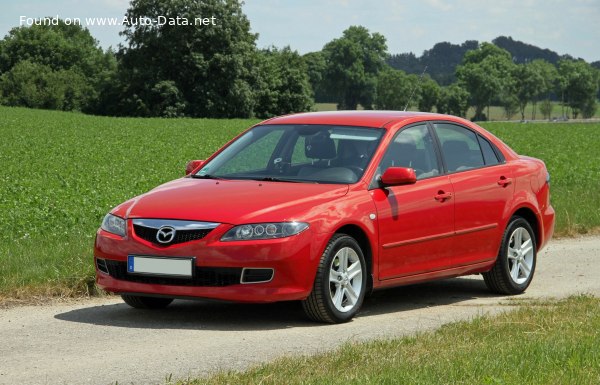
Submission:
[[330,125],[264,125],[246,132],[195,178],[355,183],[383,130]]

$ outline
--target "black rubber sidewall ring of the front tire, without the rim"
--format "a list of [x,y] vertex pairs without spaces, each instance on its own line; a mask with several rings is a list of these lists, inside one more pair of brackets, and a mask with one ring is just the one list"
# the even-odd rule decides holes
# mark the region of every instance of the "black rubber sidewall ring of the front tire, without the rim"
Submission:
[[[347,312],[341,312],[335,307],[335,305],[333,304],[333,301],[331,299],[331,294],[329,291],[329,272],[331,269],[331,263],[333,261],[333,258],[336,255],[336,253],[344,247],[350,247],[356,252],[356,254],[358,255],[358,259],[360,261],[361,269],[362,269],[361,292],[358,296],[358,300],[357,300],[356,304],[354,305],[354,308]],[[324,255],[323,258],[324,258],[324,261],[323,261],[322,266],[324,268],[321,269],[321,272],[320,272],[320,274],[322,275],[321,282],[320,282],[321,283],[320,289],[325,298],[325,306],[326,306],[327,312],[329,313],[331,318],[333,318],[337,322],[349,321],[360,310],[363,300],[365,298],[365,293],[367,291],[368,272],[367,272],[367,264],[365,262],[365,257],[363,255],[362,249],[360,248],[358,242],[356,242],[356,240],[354,240],[354,238],[352,238],[348,235],[344,235],[342,237],[339,237],[339,238],[333,240],[333,242],[330,244],[330,247],[327,248],[327,254]]]

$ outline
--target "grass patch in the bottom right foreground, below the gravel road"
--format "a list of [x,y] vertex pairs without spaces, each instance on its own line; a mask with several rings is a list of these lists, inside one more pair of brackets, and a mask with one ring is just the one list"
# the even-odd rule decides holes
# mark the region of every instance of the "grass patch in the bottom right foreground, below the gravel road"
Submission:
[[348,343],[177,384],[600,383],[600,299],[519,304],[413,337]]

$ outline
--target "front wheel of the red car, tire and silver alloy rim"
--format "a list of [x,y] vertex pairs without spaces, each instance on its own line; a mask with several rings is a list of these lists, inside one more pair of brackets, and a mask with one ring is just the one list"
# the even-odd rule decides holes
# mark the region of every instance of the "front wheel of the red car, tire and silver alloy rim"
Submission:
[[367,291],[367,264],[356,240],[334,235],[327,244],[313,284],[302,307],[318,322],[342,323],[360,310]]

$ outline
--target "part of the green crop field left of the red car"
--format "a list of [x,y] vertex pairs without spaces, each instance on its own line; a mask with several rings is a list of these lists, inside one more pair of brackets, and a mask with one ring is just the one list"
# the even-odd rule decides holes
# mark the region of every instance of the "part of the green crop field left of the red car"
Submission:
[[0,295],[93,289],[103,216],[181,177],[255,121],[106,118],[0,107]]

